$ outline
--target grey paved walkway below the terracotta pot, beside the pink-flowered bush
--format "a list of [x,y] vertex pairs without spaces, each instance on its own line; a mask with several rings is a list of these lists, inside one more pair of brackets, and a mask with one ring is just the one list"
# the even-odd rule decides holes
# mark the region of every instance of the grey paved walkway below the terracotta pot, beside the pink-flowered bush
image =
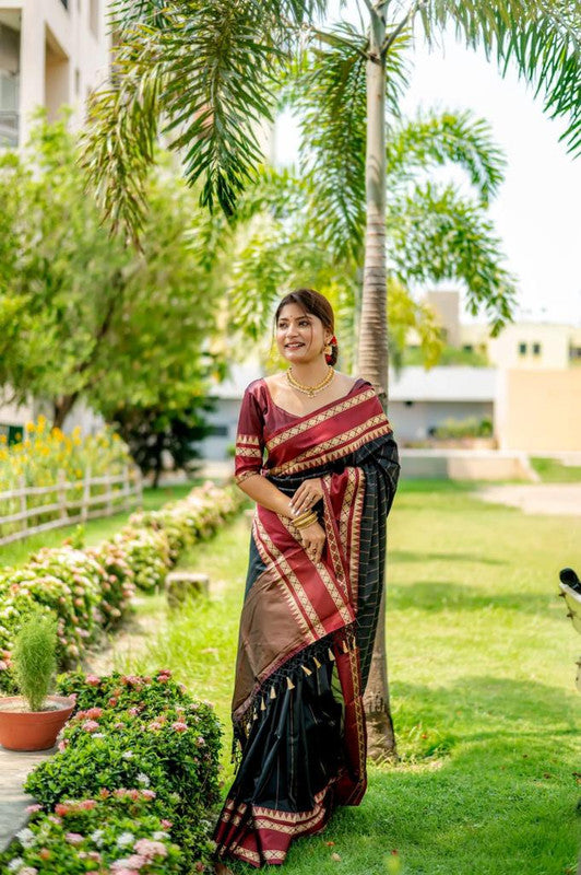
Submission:
[[25,809],[34,800],[22,789],[26,775],[56,749],[55,746],[49,750],[5,750],[0,746],[0,851],[28,820]]

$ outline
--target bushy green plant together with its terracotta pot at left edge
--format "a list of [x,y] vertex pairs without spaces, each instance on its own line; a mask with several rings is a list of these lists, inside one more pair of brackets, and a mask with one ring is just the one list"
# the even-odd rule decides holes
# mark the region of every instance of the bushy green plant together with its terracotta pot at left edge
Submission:
[[40,609],[22,623],[12,672],[22,696],[0,698],[0,745],[9,750],[46,750],[72,714],[74,698],[48,696],[57,661],[57,621]]

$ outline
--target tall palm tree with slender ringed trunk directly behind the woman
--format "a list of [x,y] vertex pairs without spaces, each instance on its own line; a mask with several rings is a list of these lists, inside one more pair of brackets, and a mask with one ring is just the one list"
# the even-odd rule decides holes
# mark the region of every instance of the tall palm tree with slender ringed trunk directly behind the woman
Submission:
[[[262,160],[257,126],[272,120],[278,80],[297,56],[312,47],[324,72],[324,49],[343,52],[344,74],[334,79],[325,101],[345,126],[353,109],[346,101],[349,69],[363,67],[365,199],[360,192],[358,209],[365,211],[366,233],[358,371],[387,404],[386,109],[412,28],[417,25],[431,39],[453,24],[469,46],[495,54],[502,69],[517,65],[543,94],[552,117],[568,117],[564,137],[578,152],[581,12],[570,0],[361,0],[361,28],[351,32],[321,28],[328,5],[327,0],[117,0],[115,77],[93,102],[85,163],[112,226],[139,241],[145,177],[163,130],[182,156],[188,180],[201,179],[202,203],[233,215]],[[339,139],[344,147],[345,138]],[[349,177],[351,150],[331,155],[334,142],[329,141],[330,161]],[[388,751],[394,739],[382,634],[380,629],[368,715]]]

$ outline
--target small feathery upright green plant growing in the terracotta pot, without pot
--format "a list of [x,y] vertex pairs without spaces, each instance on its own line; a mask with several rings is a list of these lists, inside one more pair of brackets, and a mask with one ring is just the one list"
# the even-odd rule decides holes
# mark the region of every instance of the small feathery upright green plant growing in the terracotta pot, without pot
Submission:
[[57,619],[33,610],[22,623],[12,653],[13,673],[31,711],[40,711],[57,667]]

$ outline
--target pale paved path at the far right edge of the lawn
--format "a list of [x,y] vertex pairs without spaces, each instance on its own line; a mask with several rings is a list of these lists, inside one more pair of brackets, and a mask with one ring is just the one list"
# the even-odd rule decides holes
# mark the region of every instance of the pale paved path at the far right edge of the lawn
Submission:
[[524,513],[581,516],[581,483],[485,486],[474,494],[494,504],[520,508]]

